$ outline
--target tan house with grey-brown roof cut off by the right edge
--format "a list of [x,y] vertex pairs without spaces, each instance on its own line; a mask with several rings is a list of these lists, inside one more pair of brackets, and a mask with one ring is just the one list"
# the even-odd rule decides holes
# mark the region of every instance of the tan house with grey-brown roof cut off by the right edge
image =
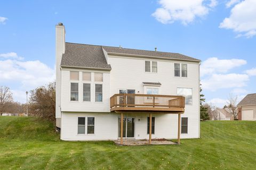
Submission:
[[238,120],[256,121],[256,94],[249,94],[238,105]]

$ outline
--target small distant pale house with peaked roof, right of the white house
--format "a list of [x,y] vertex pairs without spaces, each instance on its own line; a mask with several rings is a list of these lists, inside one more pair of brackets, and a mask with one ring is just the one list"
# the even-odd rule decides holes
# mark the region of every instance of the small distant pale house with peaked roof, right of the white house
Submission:
[[230,113],[229,108],[217,108],[214,111],[212,120],[230,121],[234,120],[234,116]]

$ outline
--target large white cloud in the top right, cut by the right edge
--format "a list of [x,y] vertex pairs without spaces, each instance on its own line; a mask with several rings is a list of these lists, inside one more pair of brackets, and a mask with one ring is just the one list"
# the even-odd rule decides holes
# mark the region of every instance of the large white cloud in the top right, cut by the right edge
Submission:
[[237,37],[245,36],[251,38],[256,35],[256,1],[245,0],[236,4],[229,18],[225,18],[219,28],[231,29],[236,32]]

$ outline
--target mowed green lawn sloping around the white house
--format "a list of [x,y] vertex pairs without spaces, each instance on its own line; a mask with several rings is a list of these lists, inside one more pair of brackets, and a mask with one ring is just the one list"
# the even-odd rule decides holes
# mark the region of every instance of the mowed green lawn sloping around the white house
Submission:
[[0,117],[0,169],[255,169],[256,122],[201,123],[181,145],[60,141],[47,121]]

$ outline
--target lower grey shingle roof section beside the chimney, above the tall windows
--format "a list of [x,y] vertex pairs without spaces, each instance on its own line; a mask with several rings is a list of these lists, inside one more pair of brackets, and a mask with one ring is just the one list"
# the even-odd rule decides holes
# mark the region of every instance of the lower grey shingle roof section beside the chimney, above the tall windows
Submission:
[[101,46],[66,43],[61,66],[88,67],[111,70]]

